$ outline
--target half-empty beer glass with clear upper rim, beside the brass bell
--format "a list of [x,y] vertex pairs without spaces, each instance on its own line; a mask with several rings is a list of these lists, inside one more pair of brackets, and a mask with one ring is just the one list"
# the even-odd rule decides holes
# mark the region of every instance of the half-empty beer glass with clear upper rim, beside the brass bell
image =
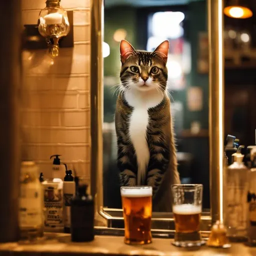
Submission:
[[171,185],[175,222],[173,245],[200,246],[205,243],[200,236],[202,210],[202,184]]

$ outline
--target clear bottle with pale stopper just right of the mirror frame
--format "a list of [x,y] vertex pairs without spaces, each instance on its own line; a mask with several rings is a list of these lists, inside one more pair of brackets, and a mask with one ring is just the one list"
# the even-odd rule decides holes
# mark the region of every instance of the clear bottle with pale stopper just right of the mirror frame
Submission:
[[[235,161],[227,167],[224,193],[224,221],[227,236],[231,241],[243,241],[247,232],[247,192],[249,170],[243,164],[243,154],[237,154]],[[245,203],[244,203],[245,202]]]

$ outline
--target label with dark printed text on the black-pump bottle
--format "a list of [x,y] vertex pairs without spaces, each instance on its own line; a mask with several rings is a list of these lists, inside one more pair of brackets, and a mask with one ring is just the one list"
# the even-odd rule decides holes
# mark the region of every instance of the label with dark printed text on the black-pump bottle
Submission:
[[44,188],[45,227],[62,227],[62,188],[47,184]]

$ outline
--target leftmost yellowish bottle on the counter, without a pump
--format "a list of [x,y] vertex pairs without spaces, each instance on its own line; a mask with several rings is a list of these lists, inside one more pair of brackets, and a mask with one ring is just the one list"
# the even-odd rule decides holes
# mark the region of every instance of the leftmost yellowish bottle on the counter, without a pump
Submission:
[[22,161],[20,168],[19,229],[20,237],[43,236],[42,189],[38,167],[33,161]]

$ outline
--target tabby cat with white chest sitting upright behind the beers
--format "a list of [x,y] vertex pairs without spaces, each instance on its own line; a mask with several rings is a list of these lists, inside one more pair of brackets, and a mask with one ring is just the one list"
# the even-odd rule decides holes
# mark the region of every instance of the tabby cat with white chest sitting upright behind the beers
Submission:
[[171,211],[170,185],[180,183],[166,94],[168,49],[167,40],[152,52],[120,42],[115,110],[120,184],[152,186],[154,211]]

